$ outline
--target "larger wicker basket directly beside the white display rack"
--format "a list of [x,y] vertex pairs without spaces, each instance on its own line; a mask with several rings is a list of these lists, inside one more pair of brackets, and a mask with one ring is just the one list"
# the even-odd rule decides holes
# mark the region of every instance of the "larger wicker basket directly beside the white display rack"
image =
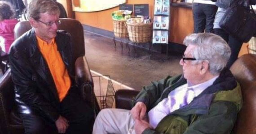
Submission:
[[128,24],[127,30],[129,33],[129,39],[135,43],[147,43],[152,39],[152,27],[153,23],[148,24]]

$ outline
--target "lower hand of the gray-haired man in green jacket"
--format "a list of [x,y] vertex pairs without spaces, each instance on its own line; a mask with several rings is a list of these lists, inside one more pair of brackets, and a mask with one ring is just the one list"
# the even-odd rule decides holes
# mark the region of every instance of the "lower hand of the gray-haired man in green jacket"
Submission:
[[134,130],[136,134],[142,134],[147,128],[152,128],[150,124],[145,120],[136,119],[134,124]]

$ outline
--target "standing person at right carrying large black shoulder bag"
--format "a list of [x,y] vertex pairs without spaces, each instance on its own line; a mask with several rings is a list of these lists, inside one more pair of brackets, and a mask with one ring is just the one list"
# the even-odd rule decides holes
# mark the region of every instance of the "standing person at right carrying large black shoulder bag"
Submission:
[[[224,29],[221,29],[219,23],[221,21],[221,18],[224,17],[226,9],[228,7],[230,7],[230,5],[235,1],[236,0],[217,0],[216,6],[218,7],[218,10],[216,12],[215,21],[213,23],[214,24],[214,26],[213,26],[214,33],[221,36],[230,46],[231,55],[230,55],[230,59],[227,63],[228,68],[230,68],[231,65],[238,58],[238,54],[243,45],[243,42],[239,41],[237,38],[234,38],[233,36],[228,34]],[[240,0],[240,1],[245,1],[245,2],[247,1],[250,4],[256,4],[256,0]]]

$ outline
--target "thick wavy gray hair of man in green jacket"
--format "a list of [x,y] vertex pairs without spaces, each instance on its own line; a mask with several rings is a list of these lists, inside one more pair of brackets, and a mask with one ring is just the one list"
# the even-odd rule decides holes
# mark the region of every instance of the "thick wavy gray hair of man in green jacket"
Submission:
[[190,34],[184,39],[183,44],[196,46],[191,53],[192,56],[199,61],[207,60],[209,71],[213,75],[220,73],[230,59],[231,50],[229,45],[216,34]]

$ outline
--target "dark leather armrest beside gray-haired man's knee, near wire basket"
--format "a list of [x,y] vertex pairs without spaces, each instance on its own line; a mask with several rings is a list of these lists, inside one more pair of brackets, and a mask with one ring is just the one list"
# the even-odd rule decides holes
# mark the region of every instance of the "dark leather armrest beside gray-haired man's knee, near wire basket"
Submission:
[[132,100],[138,93],[137,90],[119,89],[115,92],[115,108],[131,110]]

